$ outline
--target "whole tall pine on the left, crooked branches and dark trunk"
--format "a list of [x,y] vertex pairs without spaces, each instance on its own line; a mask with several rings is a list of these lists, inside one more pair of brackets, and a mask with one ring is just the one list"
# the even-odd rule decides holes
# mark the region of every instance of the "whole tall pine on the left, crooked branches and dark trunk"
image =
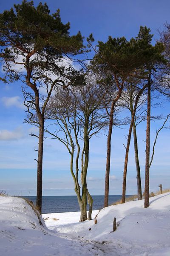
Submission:
[[[70,70],[69,74],[66,72],[61,64],[63,57],[74,56],[83,50],[80,32],[70,36],[69,29],[69,23],[61,22],[59,9],[50,14],[46,3],[39,3],[34,7],[33,1],[24,0],[21,4],[14,5],[14,9],[0,14],[0,60],[4,70],[1,80],[6,82],[21,79],[25,83],[25,105],[30,114],[29,119],[39,127],[37,208],[40,213],[45,108],[57,84],[75,84],[74,75],[77,72],[71,72],[71,75]],[[66,79],[63,78],[65,76]],[[41,94],[41,89],[44,88],[45,93]]]

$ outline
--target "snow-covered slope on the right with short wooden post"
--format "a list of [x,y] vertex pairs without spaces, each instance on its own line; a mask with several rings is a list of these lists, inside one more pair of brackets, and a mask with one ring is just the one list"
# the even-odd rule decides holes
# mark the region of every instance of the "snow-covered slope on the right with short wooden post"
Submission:
[[[49,217],[46,225],[51,230],[72,239],[102,243],[108,252],[112,248],[113,255],[170,256],[170,193],[150,198],[147,209],[143,205],[141,200],[106,207],[99,212],[97,224],[94,220],[72,224],[60,220],[57,224],[50,214],[44,217]],[[57,217],[57,213],[53,215]],[[114,217],[119,226],[113,233]]]

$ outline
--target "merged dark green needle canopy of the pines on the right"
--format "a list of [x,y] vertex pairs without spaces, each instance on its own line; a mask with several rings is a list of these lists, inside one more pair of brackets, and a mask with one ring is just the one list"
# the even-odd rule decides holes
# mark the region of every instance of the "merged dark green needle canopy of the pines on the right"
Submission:
[[150,29],[140,27],[136,38],[127,41],[125,37],[112,38],[108,41],[98,42],[98,53],[94,56],[94,63],[97,68],[110,70],[115,74],[127,76],[131,71],[141,66],[150,66],[152,63],[164,62],[162,52],[163,44],[151,44],[153,35],[150,35]]

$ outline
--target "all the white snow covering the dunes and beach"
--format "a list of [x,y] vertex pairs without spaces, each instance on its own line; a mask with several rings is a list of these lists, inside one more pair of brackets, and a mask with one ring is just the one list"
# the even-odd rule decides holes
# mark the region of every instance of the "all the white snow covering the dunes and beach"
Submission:
[[24,199],[0,196],[0,256],[170,256],[169,192],[150,198],[147,209],[143,200],[103,208],[97,224],[79,217],[43,214],[40,225]]

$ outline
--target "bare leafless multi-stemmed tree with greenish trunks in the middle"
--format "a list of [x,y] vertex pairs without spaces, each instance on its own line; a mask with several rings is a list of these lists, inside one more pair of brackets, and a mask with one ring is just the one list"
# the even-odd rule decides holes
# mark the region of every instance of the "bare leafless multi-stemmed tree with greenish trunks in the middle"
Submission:
[[[57,130],[52,132],[50,125],[45,131],[62,142],[71,156],[70,171],[80,207],[80,221],[87,219],[87,198],[88,218],[91,219],[93,199],[87,189],[89,140],[105,128],[107,123],[105,111],[103,111],[102,90],[103,88],[95,81],[88,81],[85,86],[74,87],[71,90],[58,89],[48,105],[48,118],[56,120]],[[74,160],[75,151],[77,154]],[[80,177],[79,165],[81,166]],[[79,180],[81,180],[81,186]]]

